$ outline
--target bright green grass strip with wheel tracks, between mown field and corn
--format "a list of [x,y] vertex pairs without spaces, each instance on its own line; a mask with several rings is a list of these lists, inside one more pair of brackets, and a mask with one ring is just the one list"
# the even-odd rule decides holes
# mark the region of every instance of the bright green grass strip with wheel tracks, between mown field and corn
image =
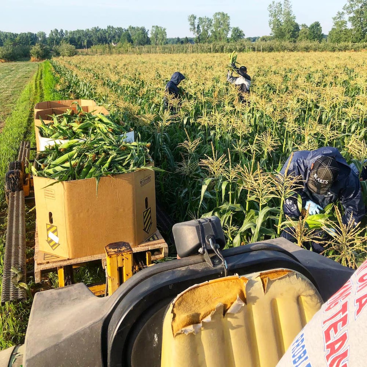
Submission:
[[[4,203],[4,177],[8,163],[17,159],[19,143],[26,139],[31,142],[31,146],[35,145],[33,107],[43,99],[44,66],[43,64],[32,65],[36,66],[36,73],[33,73],[28,83],[23,81],[23,89],[19,90],[18,98],[15,98],[11,113],[7,116],[3,131],[0,133],[0,284],[7,217],[7,207]],[[1,94],[0,97],[2,97]],[[34,219],[34,211],[27,212],[26,209],[27,258],[32,256],[34,246]],[[0,306],[0,349],[24,342],[31,305],[32,300],[26,299],[24,302],[6,302],[4,306]]]

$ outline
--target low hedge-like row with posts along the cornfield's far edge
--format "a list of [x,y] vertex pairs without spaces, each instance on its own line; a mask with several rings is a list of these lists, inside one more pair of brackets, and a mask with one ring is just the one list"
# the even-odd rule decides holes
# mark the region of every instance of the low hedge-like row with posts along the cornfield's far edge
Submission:
[[145,45],[131,46],[97,45],[87,50],[78,50],[83,55],[109,55],[109,54],[175,54],[175,53],[214,53],[214,52],[310,52],[310,51],[364,51],[367,43],[330,43],[315,41],[237,41],[237,42],[212,42],[195,44],[166,44],[161,46]]

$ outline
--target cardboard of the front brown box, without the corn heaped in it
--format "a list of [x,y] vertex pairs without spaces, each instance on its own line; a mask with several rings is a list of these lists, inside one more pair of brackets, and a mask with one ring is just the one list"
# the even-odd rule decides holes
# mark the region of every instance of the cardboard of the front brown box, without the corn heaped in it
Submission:
[[55,183],[33,177],[39,250],[63,258],[101,254],[106,245],[138,246],[156,231],[154,171]]

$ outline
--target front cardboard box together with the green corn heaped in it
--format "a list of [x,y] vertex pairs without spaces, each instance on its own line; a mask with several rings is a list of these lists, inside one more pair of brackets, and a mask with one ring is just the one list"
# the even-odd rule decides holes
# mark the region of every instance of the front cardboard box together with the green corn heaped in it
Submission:
[[61,258],[101,254],[107,244],[138,246],[156,231],[155,170],[149,143],[111,132],[71,139],[32,166],[39,250]]

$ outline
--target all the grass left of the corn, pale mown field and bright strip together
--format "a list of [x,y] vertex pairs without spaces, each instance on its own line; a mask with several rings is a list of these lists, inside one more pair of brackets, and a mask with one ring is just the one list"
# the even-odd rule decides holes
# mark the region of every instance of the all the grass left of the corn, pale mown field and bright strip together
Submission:
[[[8,163],[17,159],[19,143],[29,140],[34,146],[33,106],[43,98],[43,65],[17,62],[0,64],[0,288],[6,237],[7,207],[4,178]],[[34,211],[26,209],[27,256],[34,246]],[[33,237],[33,238],[32,238]],[[29,281],[29,279],[28,279]],[[24,341],[32,300],[6,302],[0,306],[0,349]]]

